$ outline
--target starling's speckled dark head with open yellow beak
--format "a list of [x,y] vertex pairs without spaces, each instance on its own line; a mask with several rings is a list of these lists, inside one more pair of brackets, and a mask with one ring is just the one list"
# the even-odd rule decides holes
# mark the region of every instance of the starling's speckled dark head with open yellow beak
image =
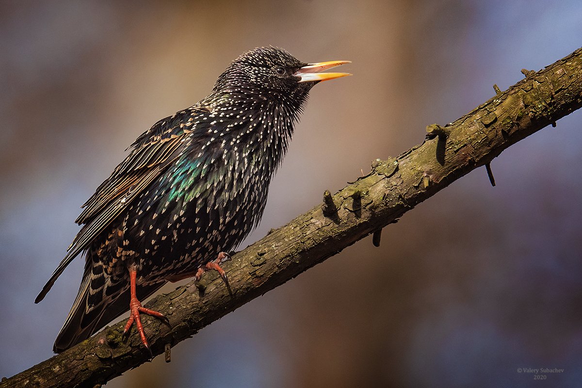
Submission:
[[255,48],[230,63],[218,78],[214,91],[239,96],[251,103],[290,104],[290,108],[299,110],[315,84],[351,75],[322,73],[344,63],[350,61],[304,63],[280,48]]

